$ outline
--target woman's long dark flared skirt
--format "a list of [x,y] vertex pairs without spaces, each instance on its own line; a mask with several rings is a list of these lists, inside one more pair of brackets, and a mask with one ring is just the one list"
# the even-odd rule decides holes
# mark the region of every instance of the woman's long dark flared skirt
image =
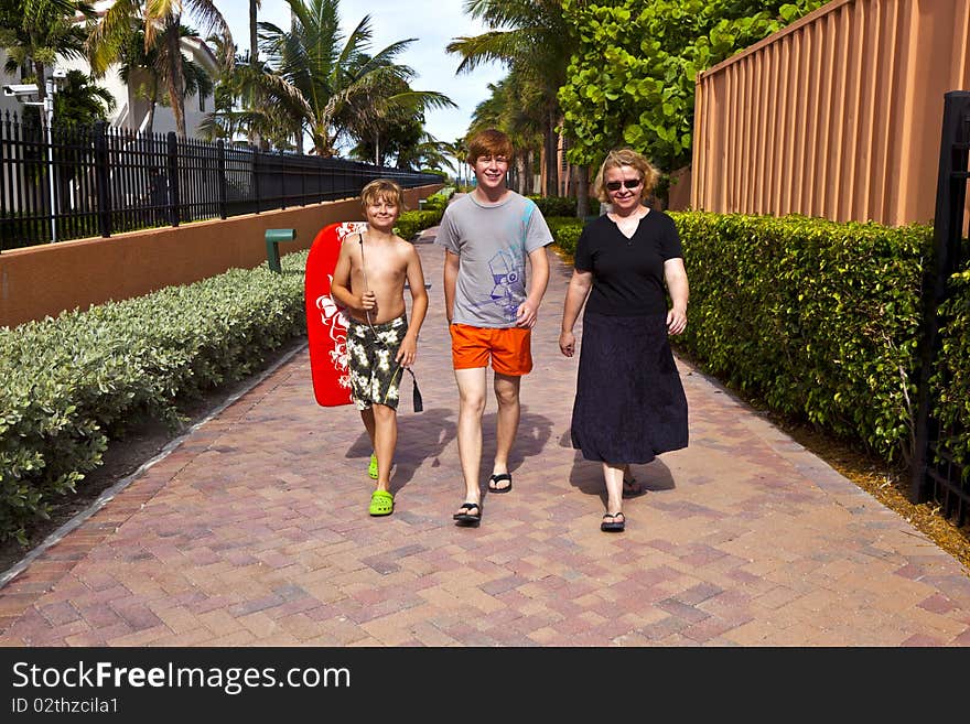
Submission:
[[572,409],[572,446],[612,464],[649,463],[687,447],[687,397],[667,315],[586,312]]

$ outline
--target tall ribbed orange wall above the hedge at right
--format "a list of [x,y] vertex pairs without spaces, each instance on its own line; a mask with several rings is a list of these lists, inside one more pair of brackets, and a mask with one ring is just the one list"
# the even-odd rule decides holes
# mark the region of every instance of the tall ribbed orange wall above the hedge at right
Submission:
[[970,0],[832,0],[698,75],[691,206],[928,223]]

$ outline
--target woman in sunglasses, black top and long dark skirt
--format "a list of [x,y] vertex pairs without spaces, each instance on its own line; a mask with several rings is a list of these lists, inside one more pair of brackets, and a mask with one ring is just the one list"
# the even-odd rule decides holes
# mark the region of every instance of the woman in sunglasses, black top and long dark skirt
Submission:
[[562,310],[559,348],[572,357],[572,329],[589,298],[572,446],[603,464],[607,501],[600,529],[607,532],[626,523],[629,465],[687,446],[687,398],[668,342],[687,327],[687,272],[673,219],[643,203],[658,176],[636,151],[606,156],[594,188],[612,210],[583,229]]

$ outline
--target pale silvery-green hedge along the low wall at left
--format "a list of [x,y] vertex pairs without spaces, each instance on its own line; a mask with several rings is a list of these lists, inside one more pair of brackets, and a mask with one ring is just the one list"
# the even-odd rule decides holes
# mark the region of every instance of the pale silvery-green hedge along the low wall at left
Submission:
[[305,331],[306,252],[146,296],[0,328],[0,540],[25,540],[144,414],[256,371]]

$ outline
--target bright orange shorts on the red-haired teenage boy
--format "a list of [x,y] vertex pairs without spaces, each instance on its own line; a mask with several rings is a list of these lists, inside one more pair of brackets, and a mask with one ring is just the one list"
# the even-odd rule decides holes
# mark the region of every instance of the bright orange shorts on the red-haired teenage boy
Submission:
[[521,377],[532,370],[532,331],[525,327],[493,329],[452,324],[451,359],[455,369],[487,367],[499,375]]

